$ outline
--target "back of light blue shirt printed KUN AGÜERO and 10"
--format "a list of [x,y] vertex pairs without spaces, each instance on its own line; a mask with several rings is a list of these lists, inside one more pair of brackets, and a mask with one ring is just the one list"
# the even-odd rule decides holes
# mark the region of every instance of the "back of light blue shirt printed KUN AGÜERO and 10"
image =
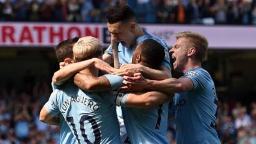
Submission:
[[[108,92],[83,92],[74,84],[62,88],[58,107],[78,143],[120,143],[114,98]],[[113,102],[112,102],[113,101]]]

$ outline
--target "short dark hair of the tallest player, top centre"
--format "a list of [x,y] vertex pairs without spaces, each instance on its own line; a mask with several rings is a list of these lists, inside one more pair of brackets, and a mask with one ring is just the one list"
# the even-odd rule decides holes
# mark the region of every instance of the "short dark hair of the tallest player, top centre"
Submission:
[[107,20],[109,24],[114,24],[116,22],[126,22],[131,19],[136,21],[135,17],[136,15],[134,11],[125,4],[112,6],[108,9],[107,12]]

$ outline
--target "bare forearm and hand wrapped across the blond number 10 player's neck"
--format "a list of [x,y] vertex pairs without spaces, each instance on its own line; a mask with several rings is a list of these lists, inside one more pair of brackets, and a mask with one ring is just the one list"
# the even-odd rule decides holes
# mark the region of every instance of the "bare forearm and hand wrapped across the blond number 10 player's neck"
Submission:
[[63,82],[70,79],[70,77],[74,76],[74,74],[76,74],[77,72],[85,68],[92,67],[92,65],[99,68],[100,70],[104,70],[105,72],[113,72],[113,68],[108,63],[97,58],[92,58],[90,60],[72,63],[61,68],[60,70],[54,73],[52,81],[56,85],[61,85],[63,84]]

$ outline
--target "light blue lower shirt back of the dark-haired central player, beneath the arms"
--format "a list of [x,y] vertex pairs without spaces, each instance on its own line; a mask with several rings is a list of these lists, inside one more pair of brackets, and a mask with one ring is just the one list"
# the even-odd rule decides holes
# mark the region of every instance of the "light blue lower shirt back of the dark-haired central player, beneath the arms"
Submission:
[[168,102],[150,109],[122,108],[125,128],[131,143],[167,144]]

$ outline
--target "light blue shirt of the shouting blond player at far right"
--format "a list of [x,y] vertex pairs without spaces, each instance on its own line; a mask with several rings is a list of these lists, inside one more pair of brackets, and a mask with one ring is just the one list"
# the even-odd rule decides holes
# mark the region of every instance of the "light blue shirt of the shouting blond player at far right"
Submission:
[[215,130],[218,98],[210,74],[195,68],[183,77],[191,79],[194,88],[174,98],[177,143],[220,144]]

